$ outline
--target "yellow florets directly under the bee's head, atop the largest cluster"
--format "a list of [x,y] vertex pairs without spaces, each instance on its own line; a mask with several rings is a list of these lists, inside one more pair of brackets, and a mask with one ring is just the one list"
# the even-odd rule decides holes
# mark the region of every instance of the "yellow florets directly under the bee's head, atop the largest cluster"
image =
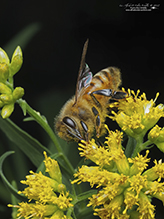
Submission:
[[78,148],[80,155],[92,160],[99,167],[112,170],[117,166],[120,173],[128,174],[129,164],[121,146],[123,134],[118,130],[110,131],[106,125],[105,127],[109,132],[105,146],[98,146],[94,139],[89,142],[81,141]]

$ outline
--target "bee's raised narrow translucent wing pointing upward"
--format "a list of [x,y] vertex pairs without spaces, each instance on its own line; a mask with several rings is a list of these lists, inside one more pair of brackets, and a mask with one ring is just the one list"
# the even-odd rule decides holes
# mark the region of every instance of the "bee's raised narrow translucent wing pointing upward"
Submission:
[[88,47],[88,39],[84,44],[83,52],[81,56],[79,74],[78,74],[77,83],[76,83],[75,103],[77,102],[78,94],[81,91],[81,89],[87,86],[87,84],[89,84],[90,81],[92,80],[92,73],[90,72],[89,66],[85,63],[87,47]]

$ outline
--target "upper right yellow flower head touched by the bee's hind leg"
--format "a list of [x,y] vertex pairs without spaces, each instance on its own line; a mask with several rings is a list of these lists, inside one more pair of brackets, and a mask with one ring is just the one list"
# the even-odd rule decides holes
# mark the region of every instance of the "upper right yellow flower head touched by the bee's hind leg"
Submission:
[[[110,116],[129,136],[137,138],[138,135],[144,136],[158,120],[164,116],[164,106],[159,104],[155,107],[155,101],[159,95],[156,94],[155,100],[147,100],[146,94],[139,96],[138,90],[128,90],[129,96],[125,100],[120,100],[117,104],[118,112],[113,112]],[[115,104],[111,104],[111,107]]]

